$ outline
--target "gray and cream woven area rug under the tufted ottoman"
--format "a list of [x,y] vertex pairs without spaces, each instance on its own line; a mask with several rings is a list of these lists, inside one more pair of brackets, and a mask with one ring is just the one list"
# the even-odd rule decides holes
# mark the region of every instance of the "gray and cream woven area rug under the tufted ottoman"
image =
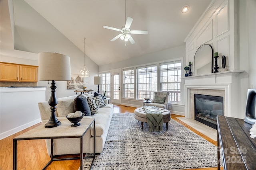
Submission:
[[[84,159],[83,169],[91,160]],[[93,170],[176,170],[217,166],[217,147],[170,120],[160,132],[141,131],[134,113],[114,113],[104,149]],[[80,169],[80,168],[79,168]]]

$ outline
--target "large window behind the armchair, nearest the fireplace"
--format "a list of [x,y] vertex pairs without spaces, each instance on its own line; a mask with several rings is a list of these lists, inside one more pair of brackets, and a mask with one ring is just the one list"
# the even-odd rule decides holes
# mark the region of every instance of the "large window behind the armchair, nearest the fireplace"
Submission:
[[160,63],[160,88],[169,92],[169,101],[180,103],[181,61]]

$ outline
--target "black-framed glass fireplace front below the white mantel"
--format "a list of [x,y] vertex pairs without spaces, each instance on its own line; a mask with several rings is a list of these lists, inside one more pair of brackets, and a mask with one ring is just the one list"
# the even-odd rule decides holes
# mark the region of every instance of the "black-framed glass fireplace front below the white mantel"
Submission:
[[217,115],[223,115],[223,97],[194,94],[195,120],[217,129]]

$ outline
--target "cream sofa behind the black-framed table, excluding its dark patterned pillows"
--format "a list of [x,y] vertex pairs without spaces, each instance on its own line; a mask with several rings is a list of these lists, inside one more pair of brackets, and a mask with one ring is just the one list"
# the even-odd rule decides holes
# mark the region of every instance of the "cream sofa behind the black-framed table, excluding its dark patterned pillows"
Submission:
[[[93,94],[84,94],[87,96],[93,96]],[[58,98],[58,104],[56,108],[56,117],[66,117],[69,113],[74,113],[74,98],[78,95],[68,96],[64,98]],[[40,115],[42,120],[49,120],[50,118],[50,106],[48,101],[39,102],[38,107],[40,110]],[[99,108],[98,113],[91,116],[85,116],[83,119],[92,119],[95,118],[95,152],[101,153],[106,137],[108,134],[108,129],[110,126],[110,121],[113,115],[113,104],[106,104],[106,106]],[[56,127],[58,128],[58,127]],[[75,127],[74,127],[75,129]],[[83,137],[83,151],[84,153],[93,153],[93,125],[90,130],[86,132]],[[71,138],[71,139],[54,139],[54,148],[53,155],[60,154],[77,154],[80,153],[80,139]],[[50,139],[46,139],[46,147],[48,155],[51,153],[51,142]]]

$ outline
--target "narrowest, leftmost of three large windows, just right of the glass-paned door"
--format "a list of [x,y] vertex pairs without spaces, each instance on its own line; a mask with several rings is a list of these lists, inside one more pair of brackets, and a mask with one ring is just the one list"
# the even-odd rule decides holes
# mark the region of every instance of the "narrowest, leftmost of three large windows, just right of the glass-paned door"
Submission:
[[134,68],[123,70],[123,97],[134,99]]

